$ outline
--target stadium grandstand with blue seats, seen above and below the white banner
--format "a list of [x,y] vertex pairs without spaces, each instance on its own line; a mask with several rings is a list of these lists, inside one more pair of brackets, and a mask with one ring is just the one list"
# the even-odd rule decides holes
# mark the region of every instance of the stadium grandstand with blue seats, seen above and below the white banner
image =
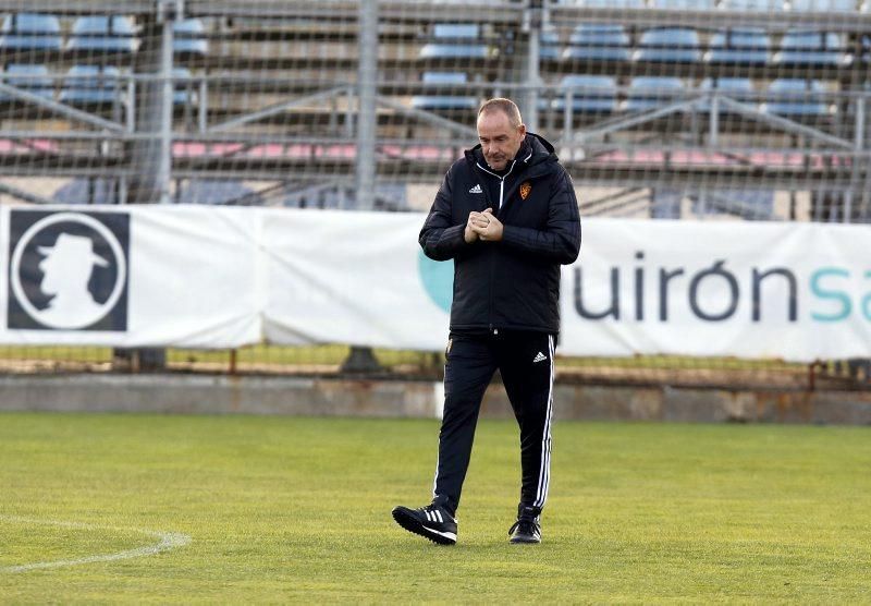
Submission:
[[[0,0],[0,13],[7,205],[425,211],[476,142],[479,104],[508,96],[554,143],[582,218],[871,221],[864,0]],[[25,369],[111,364],[105,350],[2,349]],[[280,350],[170,360],[322,372],[347,352]],[[379,361],[440,368],[438,354]],[[617,383],[868,375],[862,360],[578,368]]]

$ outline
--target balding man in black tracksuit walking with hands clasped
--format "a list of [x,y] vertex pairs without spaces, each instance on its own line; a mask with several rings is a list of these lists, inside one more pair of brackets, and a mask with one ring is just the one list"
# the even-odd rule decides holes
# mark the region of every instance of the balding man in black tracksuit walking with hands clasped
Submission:
[[456,542],[478,412],[499,369],[520,426],[523,482],[511,542],[539,543],[550,485],[560,265],[578,256],[580,219],[572,179],[553,146],[526,132],[516,105],[483,104],[478,135],[480,145],[447,171],[419,238],[430,258],[454,259],[433,500],[396,507],[393,517],[436,543]]

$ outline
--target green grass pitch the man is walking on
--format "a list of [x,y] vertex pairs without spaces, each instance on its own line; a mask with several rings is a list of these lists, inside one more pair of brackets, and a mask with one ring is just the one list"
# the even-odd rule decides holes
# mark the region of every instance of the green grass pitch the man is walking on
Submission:
[[557,422],[537,546],[506,541],[513,422],[479,425],[457,545],[394,524],[437,434],[0,414],[0,603],[871,603],[869,427]]

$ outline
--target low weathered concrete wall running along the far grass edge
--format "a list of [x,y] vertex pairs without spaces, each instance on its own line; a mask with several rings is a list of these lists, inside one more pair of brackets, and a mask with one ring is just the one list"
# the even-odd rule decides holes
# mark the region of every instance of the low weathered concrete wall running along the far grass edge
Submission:
[[[556,419],[871,424],[871,393],[557,385]],[[432,381],[201,375],[0,377],[0,411],[160,412],[342,416],[441,415]],[[482,416],[510,419],[499,384]]]

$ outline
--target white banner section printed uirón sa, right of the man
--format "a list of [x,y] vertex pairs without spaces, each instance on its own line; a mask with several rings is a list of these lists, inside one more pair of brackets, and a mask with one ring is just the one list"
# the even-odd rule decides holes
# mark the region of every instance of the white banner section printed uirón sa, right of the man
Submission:
[[871,228],[589,220],[562,312],[579,355],[871,356]]

